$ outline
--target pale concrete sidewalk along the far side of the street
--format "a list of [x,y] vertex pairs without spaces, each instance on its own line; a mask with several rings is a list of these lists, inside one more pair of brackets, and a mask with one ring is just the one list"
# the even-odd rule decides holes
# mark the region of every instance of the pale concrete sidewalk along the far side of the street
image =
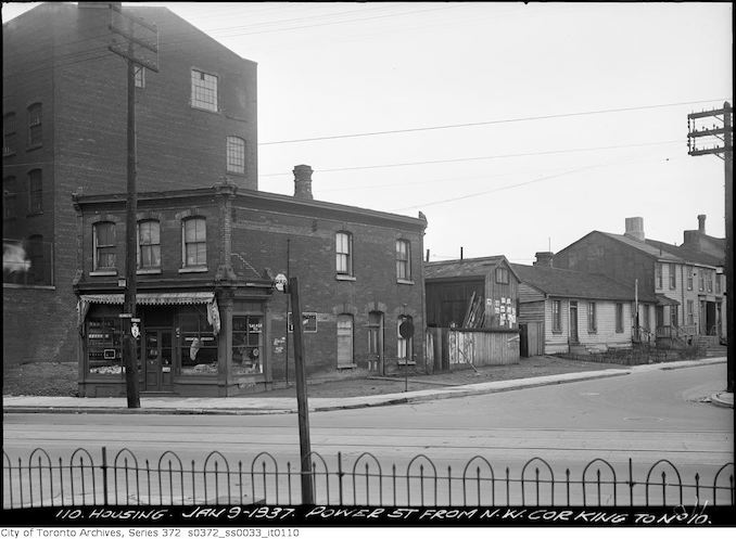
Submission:
[[[537,376],[521,380],[505,380],[484,382],[480,384],[458,385],[452,387],[436,387],[417,392],[393,393],[388,395],[369,395],[363,397],[342,398],[310,398],[309,411],[321,412],[330,410],[345,410],[376,406],[402,405],[472,395],[525,389],[553,384],[566,384],[585,380],[596,380],[611,376],[624,376],[636,372],[651,370],[674,370],[694,367],[725,363],[726,358],[707,358],[694,361],[677,361],[670,363],[652,363],[621,369],[600,371],[575,372]],[[728,405],[728,397],[731,403]],[[712,402],[719,406],[733,408],[733,394],[720,393],[711,397]],[[77,397],[3,397],[3,413],[151,413],[151,414],[271,414],[296,413],[295,398],[275,397],[142,397],[141,408],[127,408],[125,398],[77,398]]]

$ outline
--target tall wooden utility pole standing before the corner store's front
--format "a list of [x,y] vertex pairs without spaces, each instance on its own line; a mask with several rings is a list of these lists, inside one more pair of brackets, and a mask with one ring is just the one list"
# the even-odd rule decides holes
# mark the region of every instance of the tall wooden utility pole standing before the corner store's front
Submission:
[[[138,192],[136,189],[136,66],[158,73],[158,30],[154,25],[123,13],[119,5],[110,4],[110,30],[120,36],[124,43],[115,38],[107,49],[123,56],[128,63],[128,127],[127,127],[127,205],[125,241],[125,300],[123,315],[123,362],[128,408],[140,408],[138,381],[138,326],[136,322],[137,254],[138,254]],[[153,59],[151,59],[153,53]],[[147,57],[148,56],[148,57]],[[134,331],[136,334],[134,334]]]

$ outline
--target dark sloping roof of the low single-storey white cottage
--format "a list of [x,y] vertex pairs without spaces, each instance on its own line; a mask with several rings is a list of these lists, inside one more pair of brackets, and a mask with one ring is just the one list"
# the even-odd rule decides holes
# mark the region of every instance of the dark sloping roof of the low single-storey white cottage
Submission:
[[[605,275],[548,266],[512,264],[511,267],[521,278],[522,283],[534,286],[549,296],[621,301],[633,301],[636,298],[634,283],[622,284]],[[656,298],[651,294],[639,291],[639,300],[653,303]]]

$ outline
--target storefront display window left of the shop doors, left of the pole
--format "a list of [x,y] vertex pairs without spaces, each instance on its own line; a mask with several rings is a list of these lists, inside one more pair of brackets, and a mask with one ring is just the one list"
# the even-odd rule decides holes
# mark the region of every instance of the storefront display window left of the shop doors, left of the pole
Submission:
[[122,336],[118,317],[88,318],[86,341],[90,374],[123,374]]

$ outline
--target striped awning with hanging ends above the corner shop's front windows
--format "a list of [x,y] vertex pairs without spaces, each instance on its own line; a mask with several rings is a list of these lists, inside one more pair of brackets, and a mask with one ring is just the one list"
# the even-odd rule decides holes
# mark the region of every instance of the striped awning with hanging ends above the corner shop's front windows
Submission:
[[[81,294],[77,301],[77,323],[84,333],[85,319],[91,304],[123,305],[124,294]],[[215,335],[219,333],[219,309],[214,292],[141,292],[136,294],[136,305],[206,305],[207,321]]]

